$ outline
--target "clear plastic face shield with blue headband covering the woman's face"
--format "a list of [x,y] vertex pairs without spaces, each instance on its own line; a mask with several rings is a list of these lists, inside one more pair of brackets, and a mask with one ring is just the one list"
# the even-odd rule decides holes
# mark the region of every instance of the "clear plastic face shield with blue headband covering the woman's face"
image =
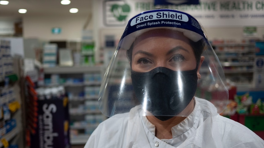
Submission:
[[171,9],[131,18],[104,74],[102,113],[111,117],[140,106],[142,116],[186,117],[194,96],[218,113],[228,102],[223,69],[198,21]]

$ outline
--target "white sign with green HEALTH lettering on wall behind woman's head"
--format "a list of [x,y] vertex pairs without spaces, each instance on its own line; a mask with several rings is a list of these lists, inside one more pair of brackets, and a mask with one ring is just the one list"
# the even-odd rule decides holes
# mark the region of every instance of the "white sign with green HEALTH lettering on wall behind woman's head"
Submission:
[[[130,18],[150,9],[185,11],[203,26],[263,26],[264,0],[199,0],[199,5],[154,6],[153,0],[98,0],[103,5],[100,27],[125,27]],[[101,15],[101,16],[100,16]]]

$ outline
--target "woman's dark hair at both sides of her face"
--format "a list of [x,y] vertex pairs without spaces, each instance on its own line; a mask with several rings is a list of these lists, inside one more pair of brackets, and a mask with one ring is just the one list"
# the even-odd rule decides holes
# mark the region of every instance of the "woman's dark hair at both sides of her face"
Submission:
[[[201,55],[203,50],[205,49],[205,42],[203,39],[199,40],[198,42],[193,42],[189,39],[190,46],[194,50],[194,56],[197,62],[197,65],[199,64],[199,61],[201,60]],[[130,67],[132,67],[132,50],[134,48],[134,42],[130,46],[130,48],[126,51],[126,56],[130,62]]]

